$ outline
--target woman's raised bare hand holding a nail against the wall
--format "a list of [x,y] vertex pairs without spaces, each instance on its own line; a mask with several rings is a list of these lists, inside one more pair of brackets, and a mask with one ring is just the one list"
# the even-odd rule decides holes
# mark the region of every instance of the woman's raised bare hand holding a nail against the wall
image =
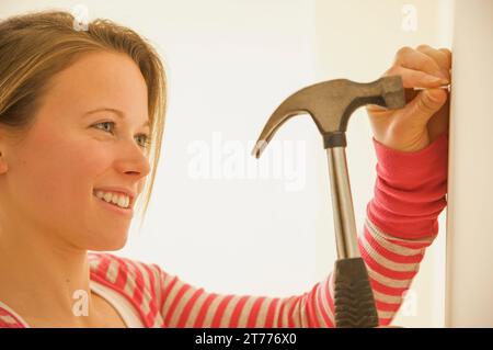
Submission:
[[368,104],[375,139],[392,149],[417,151],[448,132],[449,92],[438,87],[450,83],[450,67],[451,53],[447,48],[400,48],[383,77],[399,75],[404,88],[427,90],[406,90],[406,104],[400,110]]

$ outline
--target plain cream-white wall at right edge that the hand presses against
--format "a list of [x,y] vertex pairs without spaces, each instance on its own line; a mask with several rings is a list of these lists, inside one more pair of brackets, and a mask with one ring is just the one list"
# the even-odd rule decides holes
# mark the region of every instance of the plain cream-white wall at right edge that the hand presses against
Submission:
[[493,327],[492,33],[492,1],[456,1],[447,221],[449,327]]

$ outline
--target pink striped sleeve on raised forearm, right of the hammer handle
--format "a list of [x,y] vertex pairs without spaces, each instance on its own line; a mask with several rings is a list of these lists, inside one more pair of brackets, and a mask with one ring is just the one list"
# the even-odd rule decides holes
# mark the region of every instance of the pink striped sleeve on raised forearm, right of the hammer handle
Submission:
[[395,316],[447,205],[448,134],[415,153],[374,138],[375,194],[367,205],[359,250],[366,262],[380,325]]

